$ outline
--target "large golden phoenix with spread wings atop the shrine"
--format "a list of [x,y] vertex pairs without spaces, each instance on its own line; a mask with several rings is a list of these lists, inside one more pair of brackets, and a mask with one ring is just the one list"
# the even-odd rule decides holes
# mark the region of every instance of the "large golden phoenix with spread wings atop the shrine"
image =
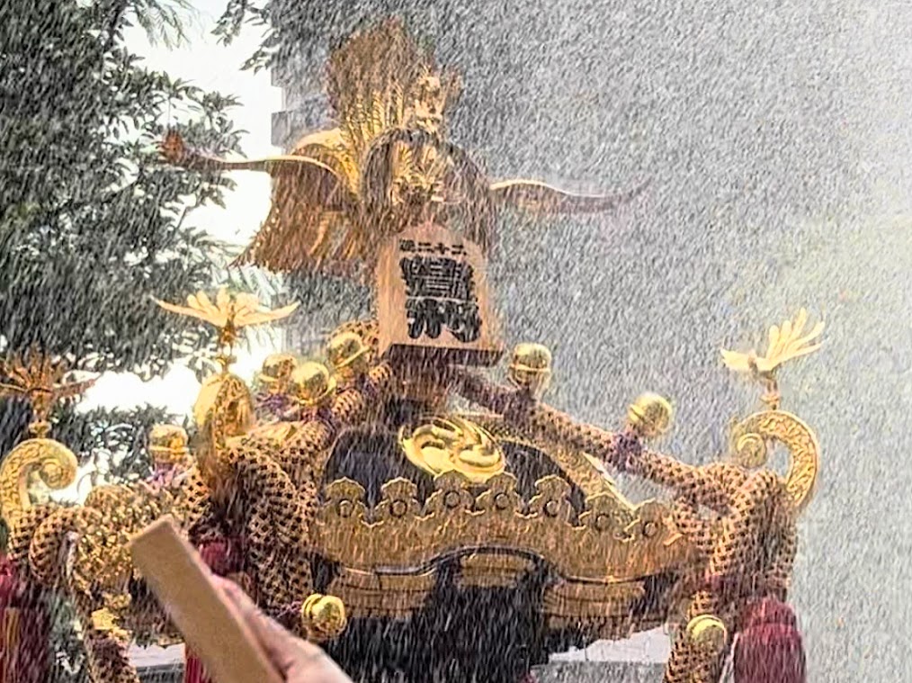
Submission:
[[452,71],[388,20],[334,50],[327,94],[338,127],[307,135],[290,154],[223,160],[168,133],[165,160],[197,170],[263,171],[272,207],[238,264],[308,270],[366,280],[378,245],[416,222],[458,227],[487,251],[496,210],[542,214],[615,209],[646,187],[606,195],[566,192],[540,181],[487,181],[446,141],[446,113],[461,92]]

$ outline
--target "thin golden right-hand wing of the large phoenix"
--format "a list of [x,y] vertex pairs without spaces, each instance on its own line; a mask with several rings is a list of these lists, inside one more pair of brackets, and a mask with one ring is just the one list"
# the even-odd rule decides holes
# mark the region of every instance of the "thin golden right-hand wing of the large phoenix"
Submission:
[[491,196],[495,202],[536,213],[601,213],[632,201],[648,184],[615,194],[575,194],[540,181],[500,181],[492,184]]

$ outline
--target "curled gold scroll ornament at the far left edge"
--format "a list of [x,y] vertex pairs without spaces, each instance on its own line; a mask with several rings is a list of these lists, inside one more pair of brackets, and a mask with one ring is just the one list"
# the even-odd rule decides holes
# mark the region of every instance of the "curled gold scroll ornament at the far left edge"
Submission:
[[29,439],[11,450],[0,464],[0,513],[6,523],[16,524],[31,507],[28,483],[33,472],[59,491],[76,481],[77,466],[73,451],[53,439]]

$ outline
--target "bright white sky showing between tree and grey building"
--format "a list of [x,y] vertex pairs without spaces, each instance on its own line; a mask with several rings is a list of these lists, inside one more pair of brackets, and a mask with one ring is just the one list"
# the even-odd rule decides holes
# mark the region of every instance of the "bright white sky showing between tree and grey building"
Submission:
[[[231,111],[237,129],[248,132],[241,140],[247,157],[275,154],[270,144],[271,115],[281,109],[280,88],[270,85],[266,71],[254,75],[241,65],[260,42],[260,31],[248,28],[232,45],[219,45],[212,36],[212,26],[224,6],[224,0],[194,0],[194,12],[186,16],[187,45],[169,49],[150,45],[140,28],[132,29],[127,42],[135,53],[145,57],[145,66],[166,71],[172,78],[192,82],[205,90],[217,90],[240,99],[241,105]],[[192,212],[189,220],[219,239],[245,243],[260,226],[269,208],[269,176],[264,173],[235,171],[234,191],[226,193],[225,208],[206,206]],[[187,294],[191,294],[188,292]],[[262,342],[267,344],[267,342]],[[269,347],[237,349],[234,371],[245,379],[252,378]],[[142,382],[129,373],[107,373],[98,378],[80,404],[81,408],[98,406],[129,409],[149,403],[178,415],[189,413],[199,384],[190,369],[175,365],[163,378]]]

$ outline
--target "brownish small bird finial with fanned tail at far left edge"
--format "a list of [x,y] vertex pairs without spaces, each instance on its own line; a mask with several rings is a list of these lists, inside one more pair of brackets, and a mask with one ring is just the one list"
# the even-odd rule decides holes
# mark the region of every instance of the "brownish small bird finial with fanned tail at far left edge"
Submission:
[[67,363],[49,357],[36,348],[8,361],[0,360],[0,398],[24,398],[31,404],[33,418],[28,429],[32,436],[47,437],[50,411],[58,400],[82,394],[95,379],[67,382]]

